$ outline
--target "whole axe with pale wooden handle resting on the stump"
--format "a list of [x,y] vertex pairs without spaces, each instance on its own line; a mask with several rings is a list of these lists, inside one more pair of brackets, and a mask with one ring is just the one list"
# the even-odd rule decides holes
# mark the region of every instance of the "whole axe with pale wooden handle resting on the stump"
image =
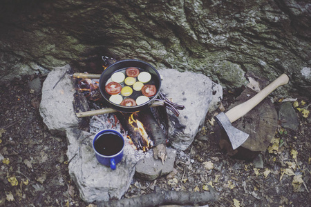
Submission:
[[227,133],[234,150],[241,146],[249,137],[249,135],[232,126],[232,122],[246,115],[249,110],[252,110],[252,108],[257,106],[257,104],[265,99],[267,95],[270,95],[272,91],[274,91],[279,86],[283,86],[288,83],[288,80],[288,76],[283,74],[270,83],[267,87],[263,88],[263,90],[258,92],[254,97],[252,97],[252,99],[249,99],[248,101],[235,106],[234,108],[228,110],[226,113],[221,112],[216,116],[218,125]]

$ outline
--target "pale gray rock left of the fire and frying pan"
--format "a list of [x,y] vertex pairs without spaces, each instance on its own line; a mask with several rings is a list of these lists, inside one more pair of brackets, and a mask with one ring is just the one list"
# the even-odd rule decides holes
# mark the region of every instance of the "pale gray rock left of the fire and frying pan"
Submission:
[[[67,128],[78,128],[79,121],[73,108],[75,88],[68,75],[59,81],[69,65],[52,70],[42,87],[42,99],[39,107],[44,124],[50,130],[65,131]],[[57,83],[59,81],[59,83]],[[55,83],[57,85],[55,86]],[[53,89],[53,87],[55,88]]]

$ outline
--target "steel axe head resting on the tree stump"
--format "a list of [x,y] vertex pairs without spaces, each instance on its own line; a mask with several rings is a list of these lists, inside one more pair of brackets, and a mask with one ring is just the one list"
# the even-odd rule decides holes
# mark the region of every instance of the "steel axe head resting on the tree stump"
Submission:
[[249,135],[241,130],[238,130],[234,126],[232,126],[230,120],[224,112],[221,112],[216,116],[216,121],[219,124],[220,128],[223,128],[227,133],[229,140],[232,144],[232,148],[235,150],[239,146],[241,146]]

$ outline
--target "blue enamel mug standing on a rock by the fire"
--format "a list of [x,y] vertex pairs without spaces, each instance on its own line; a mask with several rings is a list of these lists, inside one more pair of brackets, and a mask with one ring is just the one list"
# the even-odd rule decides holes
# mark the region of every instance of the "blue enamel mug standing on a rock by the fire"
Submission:
[[93,150],[100,164],[115,170],[116,164],[123,157],[124,137],[117,130],[101,130],[93,139]]

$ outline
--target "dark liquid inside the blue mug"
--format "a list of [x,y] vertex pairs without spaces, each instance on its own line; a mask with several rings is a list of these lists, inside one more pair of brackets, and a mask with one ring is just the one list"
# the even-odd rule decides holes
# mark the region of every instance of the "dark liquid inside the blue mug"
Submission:
[[123,138],[114,133],[105,133],[97,137],[94,141],[95,150],[106,156],[115,155],[123,148]]

